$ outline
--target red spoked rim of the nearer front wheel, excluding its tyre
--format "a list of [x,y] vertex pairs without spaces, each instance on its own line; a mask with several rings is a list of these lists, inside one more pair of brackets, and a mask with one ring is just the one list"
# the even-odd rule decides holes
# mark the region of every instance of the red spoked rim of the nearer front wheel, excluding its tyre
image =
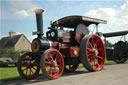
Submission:
[[59,77],[63,72],[63,59],[57,51],[49,51],[44,58],[44,67],[51,78]]

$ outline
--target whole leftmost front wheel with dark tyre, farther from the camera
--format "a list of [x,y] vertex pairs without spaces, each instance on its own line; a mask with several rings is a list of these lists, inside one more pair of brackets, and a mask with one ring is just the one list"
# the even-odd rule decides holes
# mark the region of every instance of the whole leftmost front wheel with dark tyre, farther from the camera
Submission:
[[27,52],[19,57],[17,68],[19,74],[25,79],[35,78],[40,71],[40,62],[32,52]]

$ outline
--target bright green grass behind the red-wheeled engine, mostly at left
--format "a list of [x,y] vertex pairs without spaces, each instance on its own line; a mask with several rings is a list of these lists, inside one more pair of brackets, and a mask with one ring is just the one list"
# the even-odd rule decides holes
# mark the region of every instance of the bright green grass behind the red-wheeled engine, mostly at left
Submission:
[[[105,63],[112,63],[113,61],[106,61]],[[79,68],[82,68],[83,65],[80,64]],[[40,72],[41,74],[41,72]],[[17,67],[0,67],[0,81],[5,82],[9,80],[20,79],[20,75],[17,71]]]

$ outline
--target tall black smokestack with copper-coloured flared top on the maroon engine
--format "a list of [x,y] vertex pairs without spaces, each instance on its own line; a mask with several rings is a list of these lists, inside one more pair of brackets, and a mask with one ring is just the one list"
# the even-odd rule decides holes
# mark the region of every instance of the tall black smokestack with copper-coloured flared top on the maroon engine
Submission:
[[44,12],[43,9],[36,9],[36,23],[37,23],[37,32],[33,34],[37,34],[39,38],[43,36],[43,17],[42,13]]

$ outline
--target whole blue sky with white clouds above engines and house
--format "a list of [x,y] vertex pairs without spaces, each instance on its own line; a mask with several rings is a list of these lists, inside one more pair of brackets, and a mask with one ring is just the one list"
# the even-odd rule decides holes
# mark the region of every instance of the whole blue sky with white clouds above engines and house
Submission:
[[[32,32],[36,31],[33,12],[36,8],[45,10],[44,33],[50,21],[69,15],[107,20],[107,24],[99,25],[99,31],[103,33],[128,30],[128,0],[0,0],[0,37],[14,30],[32,40]],[[128,36],[126,38],[128,40]],[[109,40],[117,42],[120,37]]]

